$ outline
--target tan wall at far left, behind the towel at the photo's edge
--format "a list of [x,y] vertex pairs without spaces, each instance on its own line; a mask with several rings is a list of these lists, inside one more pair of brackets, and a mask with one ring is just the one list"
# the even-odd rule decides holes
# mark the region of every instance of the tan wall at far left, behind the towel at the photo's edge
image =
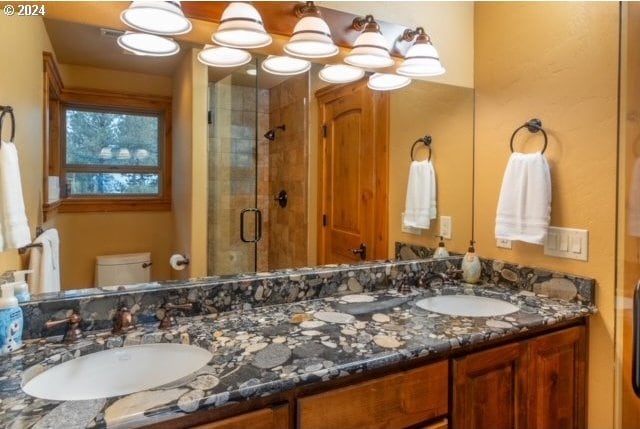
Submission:
[[[41,223],[42,51],[52,51],[40,18],[0,15],[0,104],[13,106],[24,202],[32,235]],[[5,121],[7,124],[9,121]],[[7,130],[8,131],[8,130]],[[9,138],[5,131],[4,138]],[[0,252],[0,273],[20,268],[16,251]]]

